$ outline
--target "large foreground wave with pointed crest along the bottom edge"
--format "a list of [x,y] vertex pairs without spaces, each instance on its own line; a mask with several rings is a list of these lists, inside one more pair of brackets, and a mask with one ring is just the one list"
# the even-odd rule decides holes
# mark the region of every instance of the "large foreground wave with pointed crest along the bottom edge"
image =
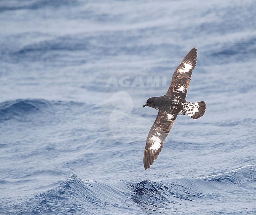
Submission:
[[[209,211],[216,211],[217,204],[228,199],[239,204],[245,194],[253,198],[255,180],[256,165],[202,178],[159,182],[95,182],[72,174],[58,186],[20,205],[9,206],[8,211],[19,210],[19,214],[123,214],[124,211],[127,214],[166,214],[184,213],[184,207],[190,206],[190,211],[200,211],[202,202]],[[233,198],[228,198],[229,195]]]

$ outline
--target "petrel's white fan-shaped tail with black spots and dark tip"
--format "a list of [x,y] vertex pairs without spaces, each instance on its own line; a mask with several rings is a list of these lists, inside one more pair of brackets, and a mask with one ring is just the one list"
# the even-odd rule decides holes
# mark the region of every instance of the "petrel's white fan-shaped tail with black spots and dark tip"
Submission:
[[204,115],[206,111],[206,103],[202,102],[186,102],[184,103],[182,111],[180,111],[181,115],[188,115],[192,119],[198,119]]

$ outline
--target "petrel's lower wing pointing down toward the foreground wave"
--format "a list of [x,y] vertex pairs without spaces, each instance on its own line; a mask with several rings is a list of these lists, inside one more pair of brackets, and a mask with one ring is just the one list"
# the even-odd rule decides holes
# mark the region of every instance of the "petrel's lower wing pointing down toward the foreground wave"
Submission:
[[166,111],[161,110],[158,111],[158,115],[148,133],[146,141],[144,150],[145,169],[148,169],[154,163],[163,148],[163,141],[165,141],[165,138],[171,130],[178,115],[178,111],[172,112],[175,113],[167,113]]

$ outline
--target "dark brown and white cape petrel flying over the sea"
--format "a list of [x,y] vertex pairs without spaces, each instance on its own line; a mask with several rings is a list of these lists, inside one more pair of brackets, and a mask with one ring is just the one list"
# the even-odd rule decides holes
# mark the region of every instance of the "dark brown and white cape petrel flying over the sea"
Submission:
[[206,111],[206,103],[187,102],[186,95],[191,80],[192,70],[197,63],[197,48],[194,47],[184,57],[174,71],[171,85],[164,96],[149,98],[143,107],[153,107],[158,115],[152,125],[144,150],[144,167],[148,169],[158,158],[163,141],[171,130],[177,115],[188,115],[192,119],[202,117]]

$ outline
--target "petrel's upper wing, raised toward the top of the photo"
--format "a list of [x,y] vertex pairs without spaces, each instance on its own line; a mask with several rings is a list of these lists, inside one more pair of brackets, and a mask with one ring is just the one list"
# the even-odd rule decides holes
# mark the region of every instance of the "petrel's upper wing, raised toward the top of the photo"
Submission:
[[181,61],[180,65],[174,71],[171,85],[166,94],[173,92],[181,98],[186,98],[187,89],[192,76],[192,70],[197,63],[197,48],[194,47]]

